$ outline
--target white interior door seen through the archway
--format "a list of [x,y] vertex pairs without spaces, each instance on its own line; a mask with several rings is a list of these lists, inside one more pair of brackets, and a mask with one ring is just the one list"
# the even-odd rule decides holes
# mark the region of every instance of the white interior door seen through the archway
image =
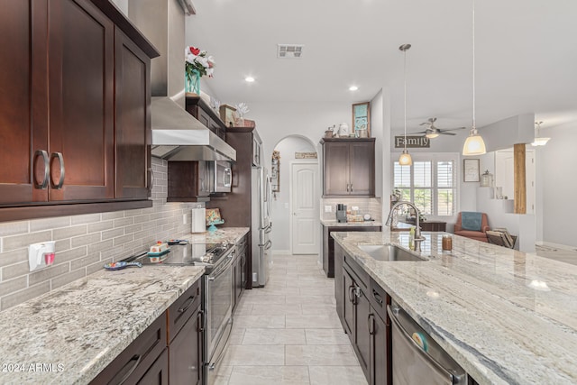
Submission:
[[316,254],[320,243],[317,163],[291,164],[292,253]]

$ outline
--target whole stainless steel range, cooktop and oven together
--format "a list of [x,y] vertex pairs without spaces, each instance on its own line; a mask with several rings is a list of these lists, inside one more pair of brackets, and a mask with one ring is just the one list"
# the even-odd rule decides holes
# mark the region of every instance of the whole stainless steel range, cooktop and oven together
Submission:
[[151,263],[144,255],[136,261],[143,265],[205,266],[202,278],[203,384],[215,382],[233,328],[233,261],[236,247],[230,243],[191,243],[170,246],[160,263]]

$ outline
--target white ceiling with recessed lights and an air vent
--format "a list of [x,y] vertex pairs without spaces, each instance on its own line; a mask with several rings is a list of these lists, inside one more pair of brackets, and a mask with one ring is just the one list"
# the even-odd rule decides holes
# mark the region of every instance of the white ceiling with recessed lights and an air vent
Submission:
[[[223,103],[360,102],[389,89],[391,125],[471,126],[472,1],[194,0],[186,42],[216,60],[203,79]],[[477,125],[536,114],[542,128],[577,120],[577,1],[475,4]],[[277,44],[304,44],[277,59]],[[256,79],[246,83],[246,76]],[[348,87],[356,85],[358,91]]]

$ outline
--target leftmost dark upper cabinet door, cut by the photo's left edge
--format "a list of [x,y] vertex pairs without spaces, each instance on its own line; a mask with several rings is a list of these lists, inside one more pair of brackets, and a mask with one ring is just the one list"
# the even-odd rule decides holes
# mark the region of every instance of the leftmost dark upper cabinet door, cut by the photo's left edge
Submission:
[[[48,191],[34,189],[33,163],[39,184],[44,179],[44,162],[49,154],[34,156],[33,149],[45,149],[48,124],[46,97],[32,99],[46,89],[46,74],[32,61],[45,61],[46,47],[32,50],[32,40],[45,35],[46,9],[28,1],[1,2],[0,12],[0,199],[5,204],[48,200]],[[32,121],[34,125],[32,125]],[[44,156],[45,155],[45,156]]]

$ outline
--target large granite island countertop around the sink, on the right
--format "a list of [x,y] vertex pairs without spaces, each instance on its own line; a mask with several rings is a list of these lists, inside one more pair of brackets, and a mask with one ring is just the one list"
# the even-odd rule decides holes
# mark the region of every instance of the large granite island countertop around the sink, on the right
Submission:
[[577,266],[444,233],[423,233],[430,261],[375,261],[357,244],[408,234],[333,233],[359,264],[481,384],[577,383]]

